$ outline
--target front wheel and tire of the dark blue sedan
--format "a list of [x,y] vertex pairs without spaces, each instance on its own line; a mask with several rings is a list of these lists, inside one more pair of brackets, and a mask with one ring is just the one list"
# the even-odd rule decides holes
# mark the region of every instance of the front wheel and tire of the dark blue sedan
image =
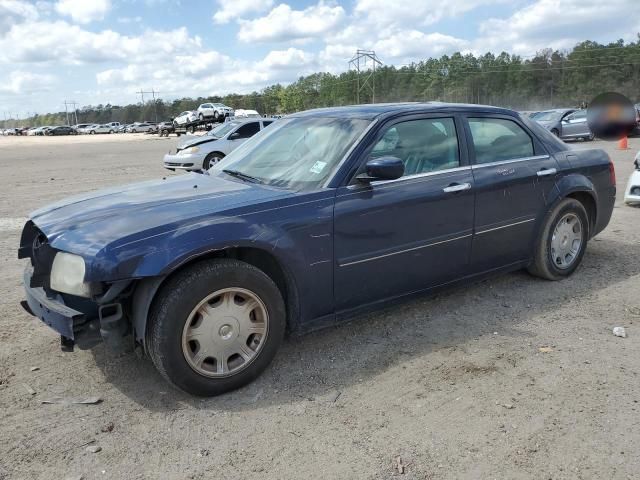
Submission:
[[[240,312],[242,306],[237,303],[236,291],[258,299],[252,301],[256,306],[249,314],[246,310],[241,314],[229,313]],[[216,308],[221,308],[217,315]],[[196,313],[200,309],[212,313],[205,317]],[[262,312],[260,316],[255,314],[257,310]],[[262,317],[262,322],[252,324],[253,320],[247,320],[245,326],[247,323],[254,328],[262,325],[262,336],[246,333],[246,329],[243,332],[238,319],[249,319],[251,315],[255,315],[254,319]],[[240,388],[262,373],[282,343],[285,326],[284,301],[271,278],[245,262],[208,260],[177,273],[160,289],[149,314],[146,346],[152,362],[169,383],[193,395],[213,396]],[[200,328],[203,330],[197,334]],[[243,334],[239,335],[240,332]],[[248,335],[246,342],[240,341],[245,335]],[[203,339],[202,345],[198,338]],[[192,345],[194,342],[196,346]],[[224,345],[221,348],[226,354],[216,350],[218,344]],[[226,357],[236,345],[245,345],[253,356],[242,347],[248,360],[239,354]],[[201,349],[203,354],[199,353]],[[218,363],[218,358],[226,360]],[[220,370],[223,365],[226,373]]]

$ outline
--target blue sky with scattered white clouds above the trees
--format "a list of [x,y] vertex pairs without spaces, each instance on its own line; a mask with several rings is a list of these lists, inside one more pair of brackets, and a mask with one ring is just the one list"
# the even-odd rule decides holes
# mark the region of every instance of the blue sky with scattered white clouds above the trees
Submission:
[[386,65],[635,41],[639,0],[0,0],[0,118],[246,93]]

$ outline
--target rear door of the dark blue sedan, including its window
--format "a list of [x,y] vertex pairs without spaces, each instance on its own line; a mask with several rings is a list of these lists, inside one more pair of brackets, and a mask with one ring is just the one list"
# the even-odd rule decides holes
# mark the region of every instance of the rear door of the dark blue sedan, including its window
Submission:
[[515,117],[468,115],[465,130],[475,182],[471,264],[478,273],[531,257],[557,163]]

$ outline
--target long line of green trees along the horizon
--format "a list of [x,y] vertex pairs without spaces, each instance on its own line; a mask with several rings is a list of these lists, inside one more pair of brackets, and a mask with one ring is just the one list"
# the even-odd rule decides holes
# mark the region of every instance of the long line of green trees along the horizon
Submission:
[[[370,72],[360,73],[360,84]],[[370,79],[369,82],[372,80]],[[369,88],[358,92],[355,71],[338,75],[314,73],[289,85],[271,85],[248,94],[229,94],[144,104],[88,105],[76,111],[79,123],[164,121],[205,102],[254,109],[266,115],[287,114],[316,107],[398,101],[479,103],[516,110],[575,107],[599,93],[615,91],[640,102],[640,33],[635,42],[609,44],[584,41],[567,51],[545,49],[530,57],[443,55],[403,66],[379,67]],[[69,117],[73,115],[70,113]],[[75,122],[75,117],[70,123]],[[66,124],[65,112],[35,115],[2,126]]]

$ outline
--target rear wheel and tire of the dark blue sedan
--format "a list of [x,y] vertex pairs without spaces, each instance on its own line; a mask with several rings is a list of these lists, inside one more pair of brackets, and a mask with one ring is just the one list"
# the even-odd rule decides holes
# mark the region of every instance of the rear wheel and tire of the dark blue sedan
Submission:
[[[569,223],[566,223],[569,222]],[[560,225],[562,223],[562,225]],[[573,198],[565,198],[544,219],[538,238],[536,239],[533,263],[528,267],[529,273],[547,280],[561,280],[571,275],[580,265],[589,239],[589,217],[584,205]],[[576,246],[572,235],[580,231],[580,243]],[[554,232],[557,235],[554,240]],[[569,231],[567,235],[566,232]],[[564,232],[564,233],[563,233]],[[573,232],[573,234],[571,234]],[[565,253],[566,248],[575,253]],[[554,245],[556,248],[554,248]],[[568,261],[567,259],[570,259]]]

